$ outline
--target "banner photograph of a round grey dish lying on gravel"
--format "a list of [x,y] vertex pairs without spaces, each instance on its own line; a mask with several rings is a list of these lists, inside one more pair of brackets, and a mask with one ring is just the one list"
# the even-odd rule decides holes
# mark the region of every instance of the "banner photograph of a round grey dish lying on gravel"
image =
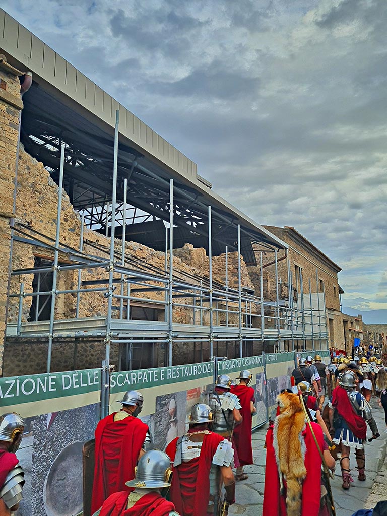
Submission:
[[83,509],[82,447],[94,437],[100,405],[25,419],[17,457],[25,472],[17,516],[72,516]]

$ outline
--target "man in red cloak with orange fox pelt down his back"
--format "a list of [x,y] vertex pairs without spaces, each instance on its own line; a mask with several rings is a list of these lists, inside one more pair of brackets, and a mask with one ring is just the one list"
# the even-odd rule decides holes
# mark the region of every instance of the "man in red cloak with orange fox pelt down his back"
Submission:
[[[322,459],[330,469],[335,461],[325,445],[321,427],[305,425],[299,396],[277,396],[279,414],[266,434],[263,516],[320,516],[329,510],[321,505]],[[312,433],[313,431],[313,433]]]

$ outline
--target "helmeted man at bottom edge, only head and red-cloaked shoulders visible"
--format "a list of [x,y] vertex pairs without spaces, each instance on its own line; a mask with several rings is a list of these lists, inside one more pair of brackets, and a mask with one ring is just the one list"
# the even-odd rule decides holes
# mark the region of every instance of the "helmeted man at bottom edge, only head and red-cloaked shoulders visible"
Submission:
[[147,451],[138,461],[136,477],[126,482],[134,491],[111,494],[93,516],[179,516],[162,495],[170,487],[171,461],[163,451]]

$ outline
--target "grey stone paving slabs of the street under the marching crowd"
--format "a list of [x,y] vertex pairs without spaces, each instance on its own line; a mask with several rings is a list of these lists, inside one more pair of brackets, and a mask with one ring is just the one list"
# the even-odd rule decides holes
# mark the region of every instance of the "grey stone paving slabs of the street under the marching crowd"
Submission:
[[[331,480],[336,516],[351,516],[358,509],[375,507],[379,500],[387,499],[387,460],[384,463],[387,435],[384,433],[384,411],[378,407],[376,399],[372,400],[372,407],[381,435],[376,441],[365,445],[367,479],[364,482],[357,479],[356,460],[352,454],[350,461],[354,482],[348,491],[344,491],[341,487],[340,463],[336,462],[335,476]],[[369,427],[367,428],[368,437],[371,437]],[[262,514],[266,459],[263,445],[266,429],[267,425],[253,433],[254,464],[245,466],[245,472],[249,474],[249,478],[236,483],[236,503],[230,507],[230,516],[231,514],[244,514],[244,516]]]

